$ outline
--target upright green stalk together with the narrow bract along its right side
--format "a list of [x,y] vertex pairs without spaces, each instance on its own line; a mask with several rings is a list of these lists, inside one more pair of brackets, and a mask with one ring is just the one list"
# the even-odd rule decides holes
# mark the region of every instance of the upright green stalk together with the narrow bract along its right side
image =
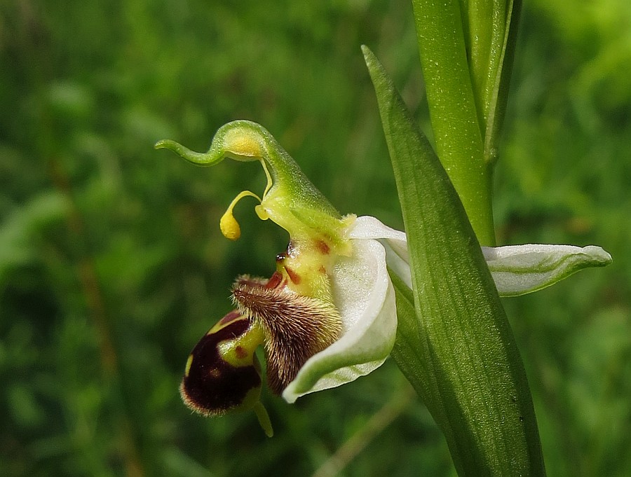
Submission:
[[480,244],[496,244],[493,166],[521,0],[413,0],[435,148]]

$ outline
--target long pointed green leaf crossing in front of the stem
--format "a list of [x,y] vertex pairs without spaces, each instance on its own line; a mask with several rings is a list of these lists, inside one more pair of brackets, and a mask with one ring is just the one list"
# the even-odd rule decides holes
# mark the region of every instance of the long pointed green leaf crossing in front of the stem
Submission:
[[[412,272],[414,319],[402,306],[393,357],[445,433],[461,476],[543,476],[524,366],[480,245],[426,137],[379,61],[363,51]],[[398,289],[398,302],[410,303]]]

